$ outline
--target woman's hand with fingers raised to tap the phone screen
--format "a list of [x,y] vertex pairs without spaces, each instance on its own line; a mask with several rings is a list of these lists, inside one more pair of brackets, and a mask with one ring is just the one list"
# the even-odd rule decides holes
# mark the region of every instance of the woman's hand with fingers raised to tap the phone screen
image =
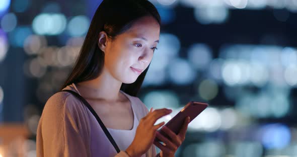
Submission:
[[140,156],[144,154],[153,144],[156,137],[157,129],[162,127],[165,122],[154,125],[156,121],[172,112],[169,109],[158,109],[152,112],[151,111],[143,118],[140,119],[139,124],[136,129],[135,137],[126,149],[126,152],[129,156]]

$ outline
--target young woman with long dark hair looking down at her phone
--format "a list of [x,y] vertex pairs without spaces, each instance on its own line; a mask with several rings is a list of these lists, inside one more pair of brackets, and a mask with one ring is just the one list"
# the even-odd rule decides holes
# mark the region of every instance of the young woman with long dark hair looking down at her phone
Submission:
[[166,138],[156,131],[164,122],[154,124],[171,110],[148,111],[136,97],[159,42],[160,25],[158,11],[147,0],[100,4],[61,88],[79,96],[58,92],[48,99],[38,124],[37,156],[174,156],[189,120],[178,135],[162,128],[170,136]]

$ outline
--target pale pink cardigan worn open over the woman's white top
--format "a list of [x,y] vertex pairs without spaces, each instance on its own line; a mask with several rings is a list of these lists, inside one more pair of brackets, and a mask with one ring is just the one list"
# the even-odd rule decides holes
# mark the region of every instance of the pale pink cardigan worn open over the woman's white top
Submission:
[[[80,94],[75,84],[63,90]],[[131,102],[134,115],[131,130],[107,128],[120,148],[117,153],[90,110],[75,96],[59,92],[46,102],[37,128],[37,156],[128,156],[139,120],[149,111],[137,97],[122,92]],[[153,144],[141,157],[156,156]]]

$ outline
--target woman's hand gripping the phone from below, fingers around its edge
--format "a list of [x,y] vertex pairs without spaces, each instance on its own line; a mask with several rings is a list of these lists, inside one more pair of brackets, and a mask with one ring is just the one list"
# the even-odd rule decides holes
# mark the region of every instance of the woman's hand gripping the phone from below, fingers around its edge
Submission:
[[187,131],[189,122],[190,122],[190,117],[187,117],[178,134],[175,134],[168,127],[164,126],[162,128],[162,131],[164,131],[171,139],[168,139],[167,137],[163,136],[160,132],[157,131],[156,137],[158,137],[164,143],[164,144],[161,144],[158,141],[154,141],[154,144],[161,149],[160,156],[164,156],[164,157],[174,156],[177,148],[185,140],[186,131]]

